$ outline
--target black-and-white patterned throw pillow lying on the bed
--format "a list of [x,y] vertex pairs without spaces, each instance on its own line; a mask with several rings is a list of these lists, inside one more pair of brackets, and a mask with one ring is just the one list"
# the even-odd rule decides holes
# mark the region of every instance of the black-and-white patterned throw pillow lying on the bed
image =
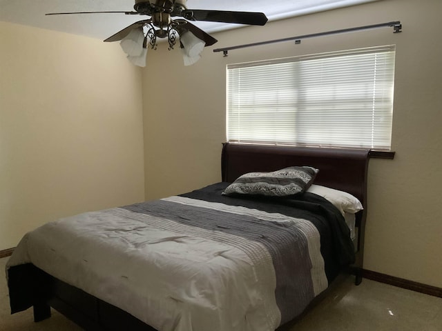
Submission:
[[311,167],[289,167],[272,172],[249,172],[238,177],[222,194],[258,194],[285,197],[309,188],[318,173]]

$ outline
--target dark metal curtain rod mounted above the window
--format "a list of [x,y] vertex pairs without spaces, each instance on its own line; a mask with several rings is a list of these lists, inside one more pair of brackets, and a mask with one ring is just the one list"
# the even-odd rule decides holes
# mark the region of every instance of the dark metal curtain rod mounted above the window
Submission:
[[215,50],[213,50],[213,52],[222,52],[224,54],[224,57],[227,57],[229,50],[238,50],[238,48],[247,48],[247,47],[253,47],[253,46],[261,46],[261,45],[267,45],[269,43],[281,43],[281,42],[284,42],[284,41],[292,41],[292,40],[294,40],[295,43],[300,43],[301,39],[314,38],[314,37],[322,37],[322,36],[327,36],[329,34],[338,34],[338,33],[354,32],[354,31],[360,31],[360,30],[385,28],[387,26],[392,26],[394,28],[393,33],[402,32],[401,21],[393,21],[393,22],[387,22],[387,23],[373,24],[372,26],[358,26],[356,28],[347,28],[347,29],[342,29],[342,30],[318,32],[318,33],[313,33],[313,34],[304,34],[303,36],[297,36],[297,37],[288,37],[288,38],[282,38],[282,39],[260,41],[258,43],[246,43],[244,45],[231,46],[231,47],[225,47],[225,48],[216,48]]

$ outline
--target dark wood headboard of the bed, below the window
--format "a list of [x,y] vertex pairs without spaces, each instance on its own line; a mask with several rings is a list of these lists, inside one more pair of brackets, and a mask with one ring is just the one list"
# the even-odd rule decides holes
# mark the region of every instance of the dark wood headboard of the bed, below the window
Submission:
[[353,194],[365,206],[368,153],[369,150],[224,143],[222,181],[235,181],[247,172],[273,171],[291,165],[309,165],[319,169],[315,184]]

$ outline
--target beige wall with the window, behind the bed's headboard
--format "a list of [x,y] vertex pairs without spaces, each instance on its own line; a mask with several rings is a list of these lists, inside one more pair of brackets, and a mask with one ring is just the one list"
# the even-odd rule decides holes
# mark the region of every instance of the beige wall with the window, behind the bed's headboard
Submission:
[[[369,164],[365,268],[442,287],[441,12],[440,0],[383,0],[221,32],[191,67],[182,66],[177,48],[150,50],[143,74],[146,198],[220,181],[227,63],[396,44],[396,157]],[[233,50],[229,57],[212,52],[396,20],[401,34],[383,28]]]

